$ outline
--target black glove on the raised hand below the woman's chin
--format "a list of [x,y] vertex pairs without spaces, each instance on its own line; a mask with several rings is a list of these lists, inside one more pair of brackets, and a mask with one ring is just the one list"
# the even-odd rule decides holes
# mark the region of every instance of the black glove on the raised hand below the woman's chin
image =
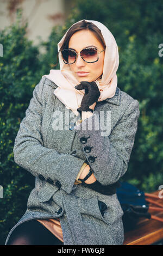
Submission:
[[100,92],[96,82],[85,82],[82,81],[78,86],[75,86],[77,90],[85,89],[85,94],[83,96],[81,106],[77,109],[77,111],[81,114],[82,111],[91,111],[93,113],[93,109],[89,108],[93,103],[98,101],[100,96]]

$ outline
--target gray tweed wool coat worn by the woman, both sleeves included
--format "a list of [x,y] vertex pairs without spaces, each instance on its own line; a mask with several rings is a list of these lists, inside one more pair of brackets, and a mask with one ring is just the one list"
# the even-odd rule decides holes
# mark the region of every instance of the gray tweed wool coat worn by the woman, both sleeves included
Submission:
[[[117,87],[114,97],[97,102],[93,115],[71,130],[70,120],[65,121],[70,109],[54,95],[56,88],[41,78],[15,138],[14,160],[35,176],[35,188],[5,245],[21,223],[56,217],[64,245],[122,245],[123,211],[116,193],[106,196],[74,182],[85,160],[102,185],[113,184],[126,173],[139,102]],[[107,206],[104,215],[98,200]]]

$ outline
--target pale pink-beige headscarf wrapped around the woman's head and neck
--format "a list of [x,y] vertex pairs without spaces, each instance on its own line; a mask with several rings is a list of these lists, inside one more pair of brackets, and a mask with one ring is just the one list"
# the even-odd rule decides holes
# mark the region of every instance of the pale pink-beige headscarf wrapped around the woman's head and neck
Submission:
[[[114,36],[111,34],[109,29],[106,28],[101,22],[91,20],[85,21],[92,22],[101,30],[106,45],[103,75],[101,79],[95,80],[98,89],[101,92],[98,101],[103,101],[107,98],[113,97],[116,92],[116,71],[119,65],[118,46],[116,44]],[[78,22],[74,24],[77,24]],[[64,42],[66,34],[58,43],[58,52]],[[44,76],[57,84],[58,88],[54,90],[54,94],[62,103],[64,103],[67,109],[71,109],[73,113],[78,116],[79,112],[77,111],[77,108],[80,107],[80,103],[82,101],[85,90],[77,90],[74,88],[79,84],[79,82],[77,78],[73,75],[73,72],[70,70],[70,66],[63,62],[61,58],[61,52],[59,53],[59,64],[60,70],[51,69],[49,75]]]

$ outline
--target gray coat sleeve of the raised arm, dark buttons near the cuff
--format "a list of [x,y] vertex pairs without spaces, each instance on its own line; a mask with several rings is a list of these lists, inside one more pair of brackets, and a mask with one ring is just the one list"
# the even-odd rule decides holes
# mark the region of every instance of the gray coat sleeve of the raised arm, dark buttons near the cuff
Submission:
[[114,184],[126,173],[139,115],[139,101],[133,100],[109,136],[102,136],[96,113],[74,127],[86,159],[102,185]]

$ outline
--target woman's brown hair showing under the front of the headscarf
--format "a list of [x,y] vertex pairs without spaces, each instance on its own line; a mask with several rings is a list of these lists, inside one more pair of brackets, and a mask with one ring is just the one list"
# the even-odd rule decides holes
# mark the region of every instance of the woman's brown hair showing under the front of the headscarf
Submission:
[[[78,32],[78,31],[82,31],[82,30],[92,31],[93,34],[95,34],[96,38],[101,42],[104,49],[106,48],[105,41],[104,41],[104,38],[103,38],[103,35],[102,35],[100,29],[95,24],[93,24],[92,22],[87,22],[87,21],[83,20],[83,21],[78,22],[77,24],[74,24],[69,29],[69,31],[67,32],[67,34],[65,36],[65,40],[64,40],[59,52],[64,50],[64,49],[67,49],[71,36],[74,33]],[[59,55],[59,52],[58,52],[58,55]],[[57,64],[58,64],[58,55],[57,55]],[[56,66],[57,64],[55,64],[53,66]]]

